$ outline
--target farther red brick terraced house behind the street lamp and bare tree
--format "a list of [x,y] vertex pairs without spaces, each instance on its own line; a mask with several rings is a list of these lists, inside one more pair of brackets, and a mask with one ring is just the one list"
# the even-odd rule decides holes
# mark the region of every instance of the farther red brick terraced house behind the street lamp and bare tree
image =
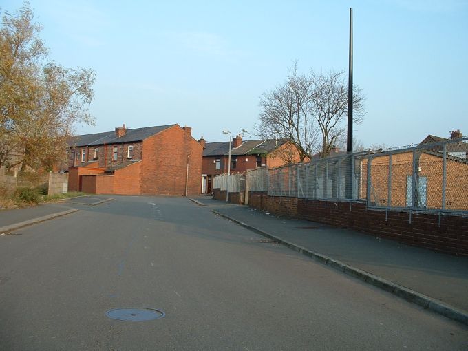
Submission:
[[[203,146],[202,193],[211,193],[216,175],[228,173],[229,142],[205,142]],[[231,173],[244,173],[257,167],[279,167],[299,162],[297,150],[285,139],[242,140],[240,135],[231,142]]]

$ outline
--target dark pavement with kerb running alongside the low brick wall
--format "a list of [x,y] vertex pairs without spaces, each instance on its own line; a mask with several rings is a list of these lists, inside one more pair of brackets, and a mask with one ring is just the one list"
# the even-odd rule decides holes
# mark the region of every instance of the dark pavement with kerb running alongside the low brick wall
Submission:
[[[216,201],[196,200],[210,206]],[[407,301],[468,324],[468,257],[276,217],[248,206],[220,206],[212,211]]]

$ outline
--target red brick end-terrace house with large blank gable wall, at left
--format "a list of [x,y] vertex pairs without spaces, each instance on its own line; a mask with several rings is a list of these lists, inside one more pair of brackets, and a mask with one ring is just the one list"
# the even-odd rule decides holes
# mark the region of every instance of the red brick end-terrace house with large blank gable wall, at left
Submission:
[[69,191],[125,195],[200,193],[202,146],[191,127],[162,125],[85,134],[69,141]]

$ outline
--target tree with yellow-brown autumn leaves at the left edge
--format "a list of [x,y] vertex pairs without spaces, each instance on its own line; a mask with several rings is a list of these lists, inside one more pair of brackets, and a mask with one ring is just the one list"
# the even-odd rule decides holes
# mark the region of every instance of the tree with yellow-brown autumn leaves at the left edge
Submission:
[[[28,3],[3,14],[0,28],[0,166],[49,168],[65,154],[74,123],[94,123],[87,105],[95,73],[46,61]],[[17,157],[11,156],[15,153]]]

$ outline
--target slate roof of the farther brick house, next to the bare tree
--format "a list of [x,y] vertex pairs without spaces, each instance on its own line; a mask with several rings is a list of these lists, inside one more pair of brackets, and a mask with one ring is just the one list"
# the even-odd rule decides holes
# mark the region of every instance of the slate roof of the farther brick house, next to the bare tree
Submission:
[[[231,155],[264,155],[284,145],[286,139],[244,140],[239,147],[231,149]],[[203,156],[226,156],[229,153],[229,142],[206,142]]]

